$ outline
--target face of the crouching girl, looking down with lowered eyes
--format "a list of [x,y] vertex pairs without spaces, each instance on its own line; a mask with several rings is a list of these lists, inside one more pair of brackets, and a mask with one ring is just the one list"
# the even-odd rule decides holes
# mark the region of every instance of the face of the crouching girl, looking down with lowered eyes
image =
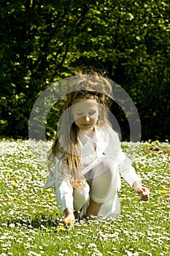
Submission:
[[93,131],[98,120],[99,109],[96,99],[80,99],[72,105],[74,123],[82,132]]

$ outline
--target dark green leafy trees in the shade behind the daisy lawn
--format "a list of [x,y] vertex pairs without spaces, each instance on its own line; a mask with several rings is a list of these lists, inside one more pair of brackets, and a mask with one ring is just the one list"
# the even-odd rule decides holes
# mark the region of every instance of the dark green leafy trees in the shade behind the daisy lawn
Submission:
[[[28,137],[37,97],[77,67],[106,70],[136,104],[142,139],[169,138],[169,1],[1,1],[1,136]],[[112,111],[128,140],[128,123]],[[58,104],[47,118],[55,134]]]

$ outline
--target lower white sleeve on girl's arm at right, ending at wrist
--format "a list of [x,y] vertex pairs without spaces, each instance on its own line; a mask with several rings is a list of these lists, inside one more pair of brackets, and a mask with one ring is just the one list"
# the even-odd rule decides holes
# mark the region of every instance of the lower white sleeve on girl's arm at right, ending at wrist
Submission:
[[141,178],[139,178],[136,170],[131,165],[131,160],[125,156],[125,153],[123,153],[123,151],[120,151],[120,154],[117,157],[117,163],[121,176],[125,178],[125,181],[127,181],[131,187],[133,186],[134,181],[141,182]]

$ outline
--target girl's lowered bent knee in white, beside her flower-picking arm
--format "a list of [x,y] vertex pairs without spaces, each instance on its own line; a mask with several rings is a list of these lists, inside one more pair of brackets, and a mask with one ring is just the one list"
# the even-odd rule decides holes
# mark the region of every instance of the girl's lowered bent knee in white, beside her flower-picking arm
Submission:
[[90,187],[88,183],[86,183],[85,187],[81,187],[80,189],[73,189],[73,197],[74,197],[74,210],[80,211],[82,206],[88,202],[90,195]]

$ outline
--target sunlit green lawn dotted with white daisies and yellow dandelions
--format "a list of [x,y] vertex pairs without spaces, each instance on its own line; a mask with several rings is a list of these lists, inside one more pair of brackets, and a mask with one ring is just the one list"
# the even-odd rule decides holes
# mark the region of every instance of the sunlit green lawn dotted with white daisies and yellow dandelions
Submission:
[[122,180],[117,219],[76,222],[71,230],[62,227],[53,189],[42,189],[50,143],[1,140],[0,148],[0,256],[170,255],[170,155],[160,150],[168,142],[141,143],[136,154],[149,203]]

